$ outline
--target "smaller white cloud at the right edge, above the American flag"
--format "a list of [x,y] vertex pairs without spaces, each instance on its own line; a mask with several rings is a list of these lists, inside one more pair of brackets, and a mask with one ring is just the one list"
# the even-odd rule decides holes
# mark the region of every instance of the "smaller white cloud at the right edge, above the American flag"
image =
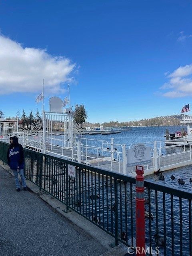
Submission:
[[171,91],[165,92],[163,96],[169,98],[178,98],[192,96],[192,64],[182,66],[174,70],[167,76],[169,79],[160,89]]

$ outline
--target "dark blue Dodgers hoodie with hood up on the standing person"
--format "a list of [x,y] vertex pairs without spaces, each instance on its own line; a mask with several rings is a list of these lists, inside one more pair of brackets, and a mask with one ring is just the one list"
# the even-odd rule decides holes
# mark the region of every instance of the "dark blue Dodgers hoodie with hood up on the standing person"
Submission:
[[18,143],[17,136],[10,137],[9,140],[12,139],[13,143],[10,144],[7,151],[7,160],[8,165],[12,170],[23,169],[24,167],[24,154],[23,147]]

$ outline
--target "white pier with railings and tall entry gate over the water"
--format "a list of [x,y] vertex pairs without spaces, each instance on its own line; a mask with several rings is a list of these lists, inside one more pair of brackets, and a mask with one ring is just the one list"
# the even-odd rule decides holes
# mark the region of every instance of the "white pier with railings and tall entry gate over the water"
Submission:
[[[80,127],[73,120],[72,108],[63,110],[62,100],[58,97],[52,97],[49,103],[50,111],[43,110],[42,121],[36,122],[31,130],[19,130],[18,121],[1,121],[0,140],[9,141],[10,136],[18,136],[26,148],[112,172],[135,175],[135,168],[127,167],[127,149],[135,144],[118,144],[113,138],[110,142],[82,138],[77,135]],[[184,116],[182,122],[192,122],[192,116]],[[151,162],[143,165],[144,175],[192,164],[192,135],[184,136],[175,145],[166,146],[166,142],[144,143],[151,148]]]

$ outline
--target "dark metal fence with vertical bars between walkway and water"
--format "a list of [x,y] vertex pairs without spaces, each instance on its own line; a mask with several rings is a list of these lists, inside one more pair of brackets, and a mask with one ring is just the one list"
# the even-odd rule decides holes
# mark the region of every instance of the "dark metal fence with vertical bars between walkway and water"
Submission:
[[[6,162],[8,144],[0,142]],[[25,175],[115,238],[135,247],[135,179],[24,149]],[[75,177],[68,175],[74,166]],[[144,182],[149,255],[192,256],[192,193]],[[151,250],[152,248],[152,250]]]

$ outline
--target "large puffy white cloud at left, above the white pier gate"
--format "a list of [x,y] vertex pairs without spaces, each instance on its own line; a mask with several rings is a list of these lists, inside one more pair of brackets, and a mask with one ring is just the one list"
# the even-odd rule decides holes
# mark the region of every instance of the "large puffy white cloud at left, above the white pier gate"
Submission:
[[73,82],[75,64],[63,56],[51,56],[45,49],[24,48],[0,35],[0,94],[40,92],[61,93],[62,84]]

